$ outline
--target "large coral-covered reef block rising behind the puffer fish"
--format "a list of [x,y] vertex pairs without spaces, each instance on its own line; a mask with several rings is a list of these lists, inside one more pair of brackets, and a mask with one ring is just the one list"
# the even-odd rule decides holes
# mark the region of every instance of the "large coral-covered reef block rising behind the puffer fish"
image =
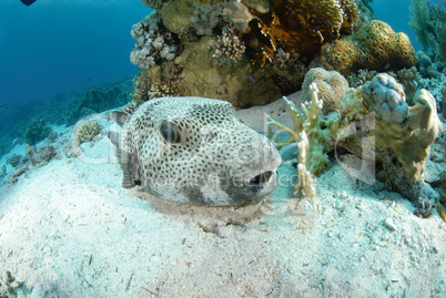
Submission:
[[354,0],[143,1],[155,11],[133,25],[141,71],[132,105],[165,95],[205,96],[239,107],[264,105],[300,89],[330,41],[361,27]]

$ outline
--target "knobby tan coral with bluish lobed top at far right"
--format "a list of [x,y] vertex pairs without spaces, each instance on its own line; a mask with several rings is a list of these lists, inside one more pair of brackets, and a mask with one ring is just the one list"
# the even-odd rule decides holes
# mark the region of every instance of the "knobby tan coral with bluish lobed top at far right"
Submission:
[[386,74],[367,82],[363,97],[365,107],[376,113],[376,144],[391,147],[413,181],[422,179],[429,146],[443,129],[435,99],[420,90],[416,105],[408,106],[403,86]]

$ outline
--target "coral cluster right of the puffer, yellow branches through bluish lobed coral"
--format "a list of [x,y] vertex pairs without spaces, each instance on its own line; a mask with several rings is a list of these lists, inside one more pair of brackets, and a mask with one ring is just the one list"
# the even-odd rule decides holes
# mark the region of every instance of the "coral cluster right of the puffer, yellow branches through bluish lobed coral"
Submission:
[[[307,78],[308,82],[310,78],[317,81],[314,73]],[[305,173],[303,165],[298,167],[301,175],[320,175],[328,164],[327,153],[344,148],[363,161],[376,161],[376,176],[407,197],[417,214],[427,216],[436,207],[438,196],[423,182],[423,173],[429,147],[442,130],[432,94],[419,90],[414,95],[415,104],[408,105],[403,85],[383,73],[358,89],[346,90],[323,114],[325,102],[318,96],[316,83],[308,89],[311,100],[302,103],[302,112],[285,99],[293,129],[270,116],[267,121],[267,136],[277,148],[302,142],[300,150],[304,150],[306,160]],[[288,137],[281,137],[280,132]],[[307,136],[307,145],[302,132]],[[308,175],[300,177],[297,189],[313,177]]]

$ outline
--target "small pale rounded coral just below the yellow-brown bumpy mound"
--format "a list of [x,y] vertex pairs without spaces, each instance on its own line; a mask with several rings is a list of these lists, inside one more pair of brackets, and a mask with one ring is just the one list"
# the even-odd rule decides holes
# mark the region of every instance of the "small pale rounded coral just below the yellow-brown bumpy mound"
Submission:
[[302,84],[302,101],[311,100],[311,84],[316,84],[318,97],[324,102],[323,112],[332,112],[341,95],[348,89],[348,82],[336,71],[325,71],[321,68],[311,69]]

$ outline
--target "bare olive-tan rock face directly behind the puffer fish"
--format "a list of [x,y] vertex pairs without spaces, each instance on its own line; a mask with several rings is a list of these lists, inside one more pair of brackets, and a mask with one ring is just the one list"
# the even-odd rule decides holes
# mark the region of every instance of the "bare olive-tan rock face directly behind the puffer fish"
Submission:
[[225,100],[240,107],[263,105],[281,96],[272,70],[251,64],[245,55],[237,63],[221,64],[213,56],[216,38],[210,37],[184,44],[183,52],[175,59],[182,68],[181,80],[176,83],[179,95]]

